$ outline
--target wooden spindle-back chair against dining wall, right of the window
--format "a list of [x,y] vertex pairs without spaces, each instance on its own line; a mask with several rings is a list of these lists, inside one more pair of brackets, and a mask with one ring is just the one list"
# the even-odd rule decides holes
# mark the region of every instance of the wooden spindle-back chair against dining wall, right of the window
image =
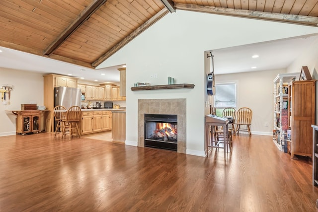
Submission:
[[[248,132],[248,135],[251,136],[250,133],[250,125],[252,121],[253,112],[248,107],[239,108],[237,112],[237,134],[239,135],[239,131]],[[246,128],[240,128],[241,125],[246,126]]]

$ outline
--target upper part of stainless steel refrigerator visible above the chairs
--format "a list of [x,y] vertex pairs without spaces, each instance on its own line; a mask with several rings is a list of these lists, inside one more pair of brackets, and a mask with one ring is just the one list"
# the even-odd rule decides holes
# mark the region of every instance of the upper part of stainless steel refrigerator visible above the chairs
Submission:
[[69,109],[71,106],[81,107],[80,89],[74,87],[56,87],[54,105],[62,105],[66,109]]

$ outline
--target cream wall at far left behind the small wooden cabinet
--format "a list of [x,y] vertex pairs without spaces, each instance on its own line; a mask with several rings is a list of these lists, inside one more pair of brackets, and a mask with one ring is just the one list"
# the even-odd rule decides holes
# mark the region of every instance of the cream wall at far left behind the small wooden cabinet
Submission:
[[[0,136],[15,135],[15,118],[5,110],[20,110],[21,104],[43,105],[43,74],[0,68],[0,86],[12,84],[10,104],[0,102]],[[41,124],[43,126],[43,123]]]

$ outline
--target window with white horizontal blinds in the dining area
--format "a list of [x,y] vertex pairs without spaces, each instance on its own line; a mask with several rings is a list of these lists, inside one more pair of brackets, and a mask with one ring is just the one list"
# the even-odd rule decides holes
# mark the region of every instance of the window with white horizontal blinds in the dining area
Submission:
[[216,108],[237,107],[237,84],[222,83],[215,85],[214,106]]

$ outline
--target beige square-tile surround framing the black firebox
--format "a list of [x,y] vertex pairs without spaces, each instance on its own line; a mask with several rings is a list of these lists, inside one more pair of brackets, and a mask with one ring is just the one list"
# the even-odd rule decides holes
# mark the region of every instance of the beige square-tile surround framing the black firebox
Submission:
[[186,153],[186,99],[139,99],[138,146],[145,147],[145,114],[177,116],[177,152]]

